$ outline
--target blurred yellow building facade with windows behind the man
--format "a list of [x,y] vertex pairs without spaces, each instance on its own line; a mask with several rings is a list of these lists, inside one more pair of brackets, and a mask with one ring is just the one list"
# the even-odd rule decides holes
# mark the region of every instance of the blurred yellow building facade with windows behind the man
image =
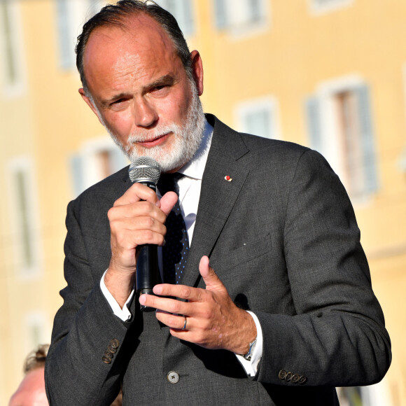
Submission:
[[[77,89],[74,45],[99,0],[0,0],[0,405],[50,341],[66,204],[127,165]],[[205,69],[204,109],[297,142],[349,192],[386,316],[393,363],[342,405],[406,405],[406,3],[162,0]],[[339,361],[338,361],[339,362]]]

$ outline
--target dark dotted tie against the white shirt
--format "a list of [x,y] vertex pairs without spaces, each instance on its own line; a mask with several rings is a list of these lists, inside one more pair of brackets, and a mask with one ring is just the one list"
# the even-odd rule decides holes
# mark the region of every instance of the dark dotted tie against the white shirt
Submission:
[[[179,174],[179,172],[162,174],[158,181],[158,189],[161,195],[165,195],[169,190],[172,190],[179,196],[178,181],[182,177],[183,174]],[[165,283],[179,283],[189,253],[188,232],[186,232],[179,200],[167,216],[165,225],[167,226],[166,243],[162,247],[164,281]]]

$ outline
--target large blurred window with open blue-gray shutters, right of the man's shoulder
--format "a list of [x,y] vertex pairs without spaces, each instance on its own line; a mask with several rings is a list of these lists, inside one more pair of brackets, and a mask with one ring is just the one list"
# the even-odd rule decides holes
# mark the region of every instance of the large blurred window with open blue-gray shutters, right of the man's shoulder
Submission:
[[365,197],[378,187],[369,89],[362,83],[328,87],[307,100],[310,146],[330,162],[350,197]]

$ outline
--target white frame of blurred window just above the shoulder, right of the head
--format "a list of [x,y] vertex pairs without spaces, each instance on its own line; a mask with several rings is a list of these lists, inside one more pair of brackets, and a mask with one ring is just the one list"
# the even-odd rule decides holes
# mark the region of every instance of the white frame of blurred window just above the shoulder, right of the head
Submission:
[[271,116],[271,120],[269,121],[269,134],[272,134],[272,139],[282,139],[281,125],[279,122],[279,104],[276,98],[272,95],[246,100],[237,104],[235,107],[235,123],[237,123],[237,130],[251,134],[250,130],[246,127],[244,117],[248,116],[248,114],[262,110],[269,111]]

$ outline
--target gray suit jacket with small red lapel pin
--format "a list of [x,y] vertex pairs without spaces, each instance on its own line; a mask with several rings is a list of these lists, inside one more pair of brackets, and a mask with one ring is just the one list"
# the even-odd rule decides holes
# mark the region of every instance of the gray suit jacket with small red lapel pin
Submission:
[[99,281],[110,260],[106,214],[131,185],[125,168],[68,207],[68,284],[45,368],[52,405],[109,405],[120,382],[124,405],[336,405],[335,386],[372,384],[388,369],[390,341],[356,219],[328,163],[207,117],[214,137],[181,283],[204,288],[198,263],[209,255],[232,299],[260,321],[257,376],[246,377],[229,351],[172,337],[137,298],[132,320],[112,314]]

